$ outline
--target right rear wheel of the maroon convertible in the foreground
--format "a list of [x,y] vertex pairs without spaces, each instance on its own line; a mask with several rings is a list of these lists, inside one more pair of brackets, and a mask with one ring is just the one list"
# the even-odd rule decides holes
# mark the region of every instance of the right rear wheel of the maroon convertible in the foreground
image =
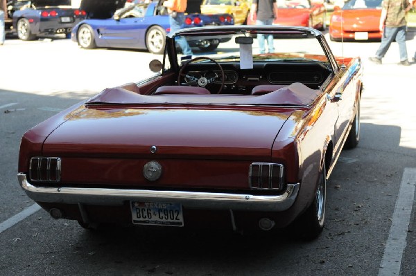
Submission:
[[300,217],[297,225],[300,237],[305,241],[316,239],[325,224],[325,210],[327,200],[327,169],[322,165],[318,183],[316,184],[315,197],[309,208]]

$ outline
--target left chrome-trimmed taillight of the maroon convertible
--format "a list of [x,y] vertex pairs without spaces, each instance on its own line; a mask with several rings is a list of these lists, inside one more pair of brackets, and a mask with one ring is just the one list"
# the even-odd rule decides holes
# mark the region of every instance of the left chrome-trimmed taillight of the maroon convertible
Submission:
[[61,160],[59,157],[33,157],[29,166],[32,181],[59,182]]

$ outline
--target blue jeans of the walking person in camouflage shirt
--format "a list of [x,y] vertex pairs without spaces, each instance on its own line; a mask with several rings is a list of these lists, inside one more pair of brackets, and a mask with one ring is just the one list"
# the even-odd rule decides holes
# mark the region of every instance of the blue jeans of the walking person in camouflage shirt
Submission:
[[376,51],[376,57],[379,59],[384,57],[388,48],[390,48],[390,44],[392,44],[395,39],[397,44],[399,44],[400,61],[403,62],[408,60],[406,49],[406,26],[385,27],[379,50]]

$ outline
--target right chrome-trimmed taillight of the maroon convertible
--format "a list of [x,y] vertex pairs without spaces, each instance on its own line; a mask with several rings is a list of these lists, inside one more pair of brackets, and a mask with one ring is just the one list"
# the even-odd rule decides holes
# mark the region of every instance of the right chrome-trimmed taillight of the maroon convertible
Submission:
[[250,189],[283,190],[283,173],[284,165],[280,163],[252,163],[248,172]]

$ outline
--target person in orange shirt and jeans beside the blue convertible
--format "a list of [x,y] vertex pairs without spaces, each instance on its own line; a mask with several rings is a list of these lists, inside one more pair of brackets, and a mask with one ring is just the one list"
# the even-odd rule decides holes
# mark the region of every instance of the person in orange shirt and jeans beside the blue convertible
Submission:
[[[184,12],[187,10],[187,0],[166,0],[163,2],[163,6],[168,8],[169,24],[171,25],[170,33],[175,33],[177,30],[180,30],[182,24],[184,24]],[[182,54],[192,55],[192,50],[187,39],[180,37],[177,38],[176,42],[182,49]]]

